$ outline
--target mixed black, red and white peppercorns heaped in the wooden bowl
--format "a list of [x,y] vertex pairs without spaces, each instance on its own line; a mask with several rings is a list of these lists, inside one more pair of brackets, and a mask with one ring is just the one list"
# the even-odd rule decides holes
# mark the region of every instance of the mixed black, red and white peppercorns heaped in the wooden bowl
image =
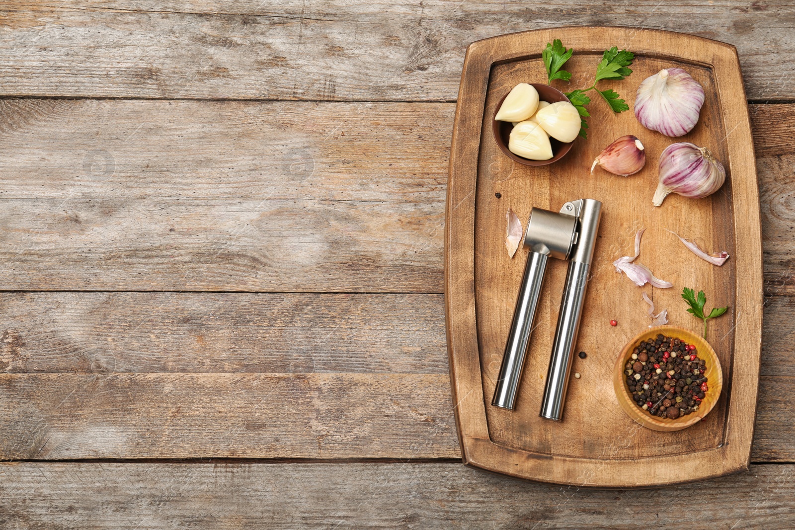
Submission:
[[[682,351],[689,354],[674,355]],[[698,410],[709,386],[706,362],[697,354],[696,346],[662,334],[638,344],[624,366],[635,404],[670,420]]]

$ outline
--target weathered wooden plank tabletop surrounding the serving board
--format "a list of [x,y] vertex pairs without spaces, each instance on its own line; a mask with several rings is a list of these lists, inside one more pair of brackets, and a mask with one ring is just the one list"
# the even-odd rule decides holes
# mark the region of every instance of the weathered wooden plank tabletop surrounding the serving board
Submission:
[[[766,280],[747,473],[622,492],[460,464],[464,49],[571,24],[739,50]],[[719,0],[4,2],[0,527],[792,528],[793,25]]]

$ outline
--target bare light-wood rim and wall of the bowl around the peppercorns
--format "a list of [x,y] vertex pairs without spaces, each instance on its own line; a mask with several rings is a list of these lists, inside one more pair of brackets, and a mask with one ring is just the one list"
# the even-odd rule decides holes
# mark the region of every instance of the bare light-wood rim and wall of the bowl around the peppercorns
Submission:
[[[649,412],[638,407],[634,400],[632,400],[630,390],[626,388],[626,381],[624,381],[626,377],[624,374],[624,366],[632,356],[632,351],[641,342],[656,337],[658,334],[665,335],[666,337],[673,337],[674,339],[681,339],[688,344],[695,345],[696,354],[707,363],[707,371],[704,372],[704,375],[707,376],[707,385],[709,389],[704,393],[704,400],[701,400],[696,412],[691,412],[685,416],[679,416],[676,420],[652,416]],[[615,397],[619,399],[621,408],[630,418],[637,421],[638,424],[653,429],[654,431],[679,431],[685,427],[690,427],[692,424],[698,423],[704,416],[708,415],[713,407],[715,407],[722,388],[723,372],[720,369],[720,361],[718,360],[718,356],[715,355],[715,350],[712,350],[712,346],[710,346],[709,342],[705,341],[701,335],[696,335],[691,331],[676,326],[650,327],[648,330],[635,335],[634,339],[627,342],[624,349],[621,350],[621,354],[615,362],[615,368],[613,369],[613,389],[615,389]]]

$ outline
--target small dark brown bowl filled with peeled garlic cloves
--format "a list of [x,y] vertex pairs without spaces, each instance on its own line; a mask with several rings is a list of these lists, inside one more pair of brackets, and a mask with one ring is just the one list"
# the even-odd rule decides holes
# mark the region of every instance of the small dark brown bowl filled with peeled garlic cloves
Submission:
[[525,165],[559,161],[580,134],[580,114],[566,95],[542,83],[519,83],[498,103],[494,139]]

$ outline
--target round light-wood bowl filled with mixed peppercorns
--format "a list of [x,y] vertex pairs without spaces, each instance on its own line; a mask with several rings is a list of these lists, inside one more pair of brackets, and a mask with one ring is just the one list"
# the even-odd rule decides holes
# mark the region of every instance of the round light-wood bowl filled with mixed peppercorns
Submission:
[[715,407],[723,372],[700,335],[676,326],[650,327],[621,350],[613,388],[630,418],[654,431],[679,431]]

